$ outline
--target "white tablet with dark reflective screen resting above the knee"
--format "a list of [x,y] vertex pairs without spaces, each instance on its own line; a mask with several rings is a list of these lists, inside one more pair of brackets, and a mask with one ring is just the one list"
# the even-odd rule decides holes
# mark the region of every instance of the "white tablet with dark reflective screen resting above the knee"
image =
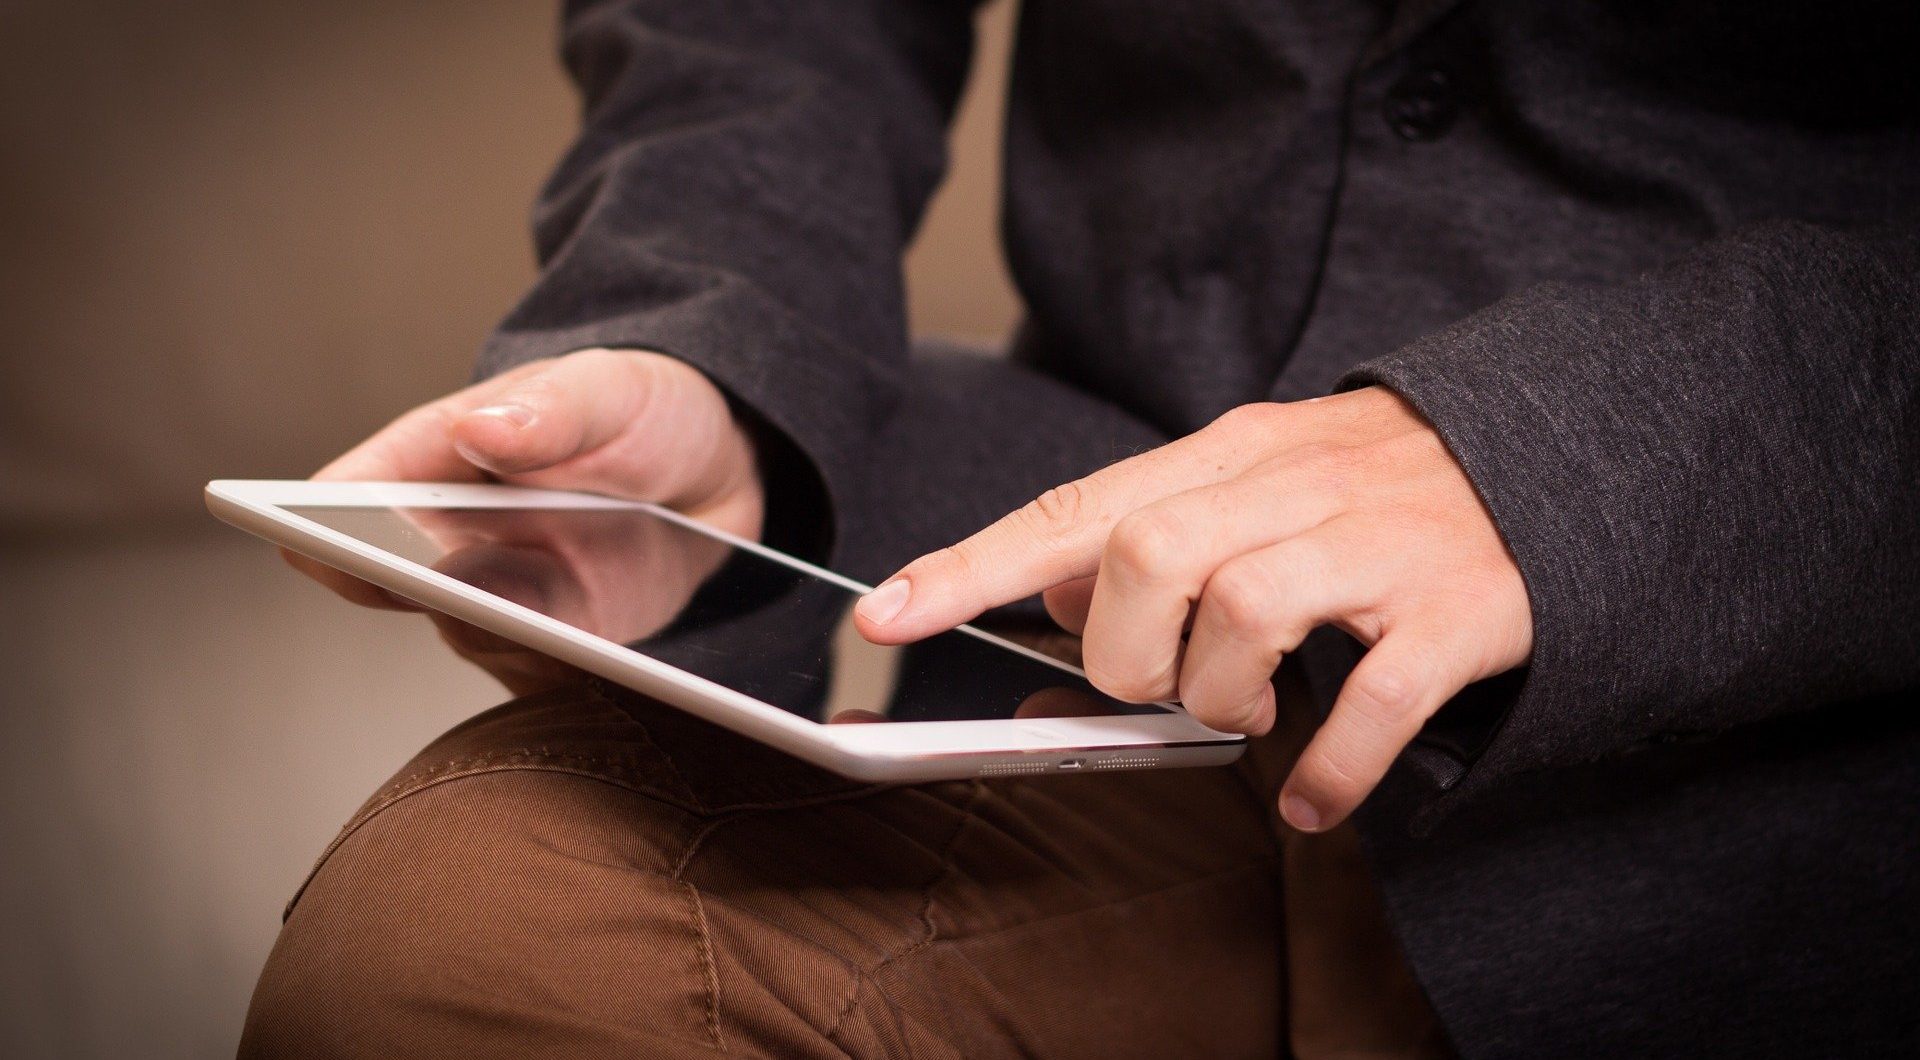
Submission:
[[[1210,766],[1246,737],[972,626],[881,647],[851,578],[672,511],[420,482],[207,484],[213,515],[860,780]],[[876,724],[883,722],[883,724]]]

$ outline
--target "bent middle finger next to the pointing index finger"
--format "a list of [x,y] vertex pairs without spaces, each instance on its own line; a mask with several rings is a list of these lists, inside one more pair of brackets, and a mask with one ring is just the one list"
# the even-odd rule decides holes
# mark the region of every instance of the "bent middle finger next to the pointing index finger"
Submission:
[[1275,461],[1121,518],[1087,611],[1087,676],[1133,703],[1171,699],[1181,630],[1208,578],[1238,555],[1321,524],[1338,503],[1304,465]]

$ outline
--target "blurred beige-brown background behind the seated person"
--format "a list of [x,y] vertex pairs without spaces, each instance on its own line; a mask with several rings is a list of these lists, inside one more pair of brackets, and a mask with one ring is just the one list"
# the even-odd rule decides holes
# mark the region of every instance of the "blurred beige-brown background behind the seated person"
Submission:
[[[459,386],[532,275],[574,125],[557,4],[0,6],[0,1041],[228,1054],[280,904],[353,807],[501,699],[215,524]],[[995,344],[1008,0],[908,261]]]

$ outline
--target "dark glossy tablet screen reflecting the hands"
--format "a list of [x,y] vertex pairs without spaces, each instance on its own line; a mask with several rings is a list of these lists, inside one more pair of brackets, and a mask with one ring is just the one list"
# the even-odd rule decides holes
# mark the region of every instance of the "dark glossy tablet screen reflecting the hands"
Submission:
[[639,509],[284,507],[816,722],[1167,712],[968,634],[868,643],[854,591]]

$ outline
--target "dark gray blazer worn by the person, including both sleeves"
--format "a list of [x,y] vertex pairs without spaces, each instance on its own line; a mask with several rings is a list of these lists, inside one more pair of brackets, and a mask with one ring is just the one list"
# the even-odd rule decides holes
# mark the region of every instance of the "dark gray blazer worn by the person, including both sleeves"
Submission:
[[[1386,384],[1532,597],[1363,814],[1469,1056],[1920,1050],[1910,0],[1027,0],[1016,363],[908,357],[970,4],[570,4],[482,371],[643,346],[881,574],[1221,411]],[[889,503],[872,497],[885,494]],[[1317,636],[1336,687],[1354,645]]]

